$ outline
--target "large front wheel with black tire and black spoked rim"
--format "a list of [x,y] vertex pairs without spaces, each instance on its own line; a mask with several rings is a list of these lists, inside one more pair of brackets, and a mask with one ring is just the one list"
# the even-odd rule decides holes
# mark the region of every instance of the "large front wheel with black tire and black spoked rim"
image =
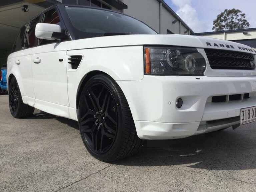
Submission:
[[100,161],[123,159],[141,146],[124,93],[108,75],[96,75],[85,84],[78,123],[86,149]]

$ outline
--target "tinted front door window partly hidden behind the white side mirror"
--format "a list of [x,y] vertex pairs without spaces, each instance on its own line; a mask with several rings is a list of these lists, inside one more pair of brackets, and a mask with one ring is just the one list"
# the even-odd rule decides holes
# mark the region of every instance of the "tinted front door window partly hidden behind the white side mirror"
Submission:
[[[57,24],[61,26],[60,18],[58,16],[58,13],[56,9],[51,9],[50,11],[44,13],[42,23],[50,23],[50,24]],[[56,41],[60,41],[60,39],[56,40],[47,40],[47,39],[39,39],[39,45],[47,44],[47,43],[53,43]]]

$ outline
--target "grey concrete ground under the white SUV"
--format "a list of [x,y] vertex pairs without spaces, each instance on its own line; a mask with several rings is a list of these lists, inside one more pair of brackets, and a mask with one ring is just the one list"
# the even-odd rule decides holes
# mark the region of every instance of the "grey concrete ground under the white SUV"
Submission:
[[15,119],[0,95],[0,191],[256,191],[256,124],[149,141],[114,164],[86,151],[78,123],[36,110]]

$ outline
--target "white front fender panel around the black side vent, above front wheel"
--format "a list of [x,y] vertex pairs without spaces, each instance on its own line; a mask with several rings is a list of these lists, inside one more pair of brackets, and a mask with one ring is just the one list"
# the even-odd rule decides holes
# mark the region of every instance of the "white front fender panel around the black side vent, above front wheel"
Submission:
[[142,80],[143,46],[106,47],[67,51],[67,57],[83,55],[76,70],[69,67],[67,61],[68,96],[70,107],[76,108],[76,94],[80,82],[92,71],[101,71],[116,81]]

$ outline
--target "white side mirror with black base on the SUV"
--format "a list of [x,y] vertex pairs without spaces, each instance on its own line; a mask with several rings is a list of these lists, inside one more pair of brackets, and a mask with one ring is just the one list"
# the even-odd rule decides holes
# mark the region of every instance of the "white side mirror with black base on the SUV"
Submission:
[[37,23],[35,35],[38,39],[47,40],[55,40],[65,37],[65,33],[61,31],[61,27],[59,25],[49,23]]

